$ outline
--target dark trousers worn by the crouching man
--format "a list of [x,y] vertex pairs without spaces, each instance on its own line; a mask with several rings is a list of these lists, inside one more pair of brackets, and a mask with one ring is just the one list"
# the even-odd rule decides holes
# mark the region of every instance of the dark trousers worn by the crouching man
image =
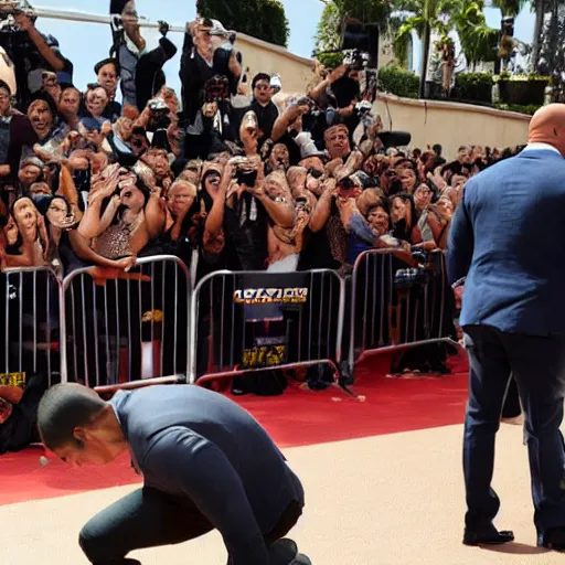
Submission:
[[[301,513],[298,502],[291,502],[275,529],[265,535],[267,546],[284,537]],[[190,501],[182,503],[174,497],[143,487],[89,520],[81,531],[79,544],[94,565],[119,565],[127,563],[125,557],[131,551],[186,542],[213,529]],[[270,552],[271,565],[288,565],[295,558],[277,550],[274,547]]]

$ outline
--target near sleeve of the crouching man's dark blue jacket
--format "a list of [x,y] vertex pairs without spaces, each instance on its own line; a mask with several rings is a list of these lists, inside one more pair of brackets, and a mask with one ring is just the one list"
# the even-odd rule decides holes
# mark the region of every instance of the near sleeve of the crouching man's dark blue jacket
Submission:
[[214,444],[185,428],[168,428],[152,443],[141,467],[192,500],[222,534],[233,565],[269,564],[239,476]]

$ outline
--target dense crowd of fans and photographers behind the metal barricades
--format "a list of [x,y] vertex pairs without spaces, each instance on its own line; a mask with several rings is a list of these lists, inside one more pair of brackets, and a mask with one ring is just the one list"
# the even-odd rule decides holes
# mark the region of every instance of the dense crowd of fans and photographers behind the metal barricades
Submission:
[[284,95],[279,77],[244,68],[215,20],[186,25],[178,96],[162,71],[177,52],[168,24],[151,49],[121,8],[86,90],[32,17],[0,34],[2,268],[129,269],[174,254],[202,277],[444,248],[467,179],[510,154],[461,147],[446,162],[439,146],[407,149],[409,136],[371,114],[354,61]]

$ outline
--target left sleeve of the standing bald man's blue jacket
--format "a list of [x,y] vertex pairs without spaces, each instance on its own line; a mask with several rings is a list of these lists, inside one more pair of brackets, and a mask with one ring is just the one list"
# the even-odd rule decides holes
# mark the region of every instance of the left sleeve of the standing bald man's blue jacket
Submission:
[[466,202],[467,190],[457,206],[447,239],[447,275],[451,285],[467,276],[475,249],[472,223]]

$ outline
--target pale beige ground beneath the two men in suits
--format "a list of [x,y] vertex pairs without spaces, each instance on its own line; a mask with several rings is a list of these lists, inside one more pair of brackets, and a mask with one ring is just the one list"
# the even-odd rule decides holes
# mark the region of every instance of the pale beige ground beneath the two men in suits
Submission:
[[[557,553],[535,547],[526,448],[520,426],[502,426],[494,488],[497,525],[513,544],[461,544],[465,497],[462,426],[286,449],[302,479],[307,508],[292,537],[313,565],[552,565]],[[0,473],[1,475],[1,473]],[[0,507],[0,558],[9,565],[86,564],[82,524],[135,487]],[[225,565],[220,535],[140,551],[143,565]]]

